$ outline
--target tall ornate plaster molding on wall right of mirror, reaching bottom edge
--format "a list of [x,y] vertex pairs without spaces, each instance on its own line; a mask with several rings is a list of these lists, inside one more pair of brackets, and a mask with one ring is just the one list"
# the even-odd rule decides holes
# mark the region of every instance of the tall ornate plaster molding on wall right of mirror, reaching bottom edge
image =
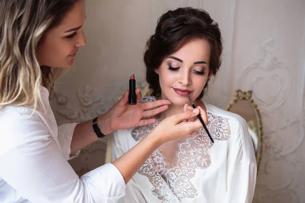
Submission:
[[[298,202],[297,191],[292,187],[295,182],[294,171],[301,167],[301,160],[290,157],[296,157],[303,144],[303,111],[296,114],[289,112],[286,101],[292,90],[292,75],[289,67],[275,55],[278,50],[275,40],[266,40],[262,48],[263,57],[248,65],[237,81],[239,88],[253,90],[253,97],[264,120],[262,170],[258,176],[254,202]],[[301,80],[304,92],[303,75]],[[304,97],[303,93],[301,96]],[[283,165],[283,162],[287,164]],[[287,173],[278,173],[279,167],[283,173]]]

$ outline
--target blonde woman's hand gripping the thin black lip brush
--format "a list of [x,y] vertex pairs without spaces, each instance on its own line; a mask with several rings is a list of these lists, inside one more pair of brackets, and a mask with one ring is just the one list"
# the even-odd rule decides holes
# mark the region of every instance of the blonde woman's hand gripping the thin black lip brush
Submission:
[[[188,137],[196,129],[201,128],[202,124],[197,118],[199,113],[204,123],[206,125],[208,124],[206,112],[201,107],[193,109],[187,106],[188,105],[186,104],[183,113],[165,118],[149,133],[158,137],[160,145],[170,140]],[[190,119],[193,118],[195,120],[191,121]]]

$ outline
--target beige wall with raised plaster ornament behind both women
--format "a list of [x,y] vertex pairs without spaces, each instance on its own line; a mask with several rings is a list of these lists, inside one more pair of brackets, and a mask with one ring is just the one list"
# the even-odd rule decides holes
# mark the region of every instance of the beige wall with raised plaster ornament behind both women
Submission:
[[[51,98],[58,124],[105,112],[128,89],[132,74],[143,87],[143,49],[158,17],[178,6],[204,8],[219,22],[225,42],[221,71],[204,100],[225,108],[235,89],[253,89],[262,113],[263,157],[254,202],[305,202],[305,1],[86,2],[87,45]],[[103,141],[71,161],[78,173],[103,163]]]

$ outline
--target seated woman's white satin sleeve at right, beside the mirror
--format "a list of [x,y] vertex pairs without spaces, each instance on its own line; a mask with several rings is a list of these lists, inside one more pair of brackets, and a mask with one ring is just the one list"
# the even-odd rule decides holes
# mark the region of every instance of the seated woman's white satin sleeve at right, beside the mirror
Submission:
[[236,139],[228,156],[226,202],[251,203],[254,195],[257,164],[247,123],[240,119]]

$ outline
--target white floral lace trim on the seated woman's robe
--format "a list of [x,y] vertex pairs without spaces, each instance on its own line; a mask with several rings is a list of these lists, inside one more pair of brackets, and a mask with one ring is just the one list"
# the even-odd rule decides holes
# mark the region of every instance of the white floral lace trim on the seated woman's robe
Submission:
[[[210,113],[207,115],[207,128],[212,138],[219,141],[228,140],[231,134],[228,119]],[[156,123],[135,127],[131,133],[132,138],[137,142],[142,140],[160,121],[157,119]],[[172,164],[158,148],[145,161],[138,173],[148,178],[153,185],[151,192],[161,202],[172,203],[179,202],[182,198],[194,198],[198,193],[190,179],[195,176],[197,168],[207,168],[211,164],[208,150],[212,146],[204,128],[201,128],[190,138],[177,144]]]

